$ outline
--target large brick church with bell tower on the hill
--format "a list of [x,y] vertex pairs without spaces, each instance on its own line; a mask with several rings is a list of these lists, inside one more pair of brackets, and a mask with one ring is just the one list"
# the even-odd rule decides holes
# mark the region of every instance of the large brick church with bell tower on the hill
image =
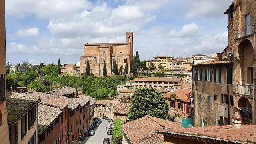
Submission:
[[133,33],[126,32],[124,43],[94,43],[84,45],[84,54],[80,58],[80,72],[86,72],[86,62],[90,63],[90,73],[94,76],[103,76],[103,64],[106,62],[108,76],[112,74],[113,61],[117,63],[118,72],[120,67],[125,68],[128,63],[130,74],[130,62],[133,59]]

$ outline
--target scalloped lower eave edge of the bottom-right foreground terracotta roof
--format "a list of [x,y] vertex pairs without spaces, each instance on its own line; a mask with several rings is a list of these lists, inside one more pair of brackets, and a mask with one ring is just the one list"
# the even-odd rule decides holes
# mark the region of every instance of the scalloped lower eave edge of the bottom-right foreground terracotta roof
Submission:
[[174,136],[174,137],[183,137],[183,138],[190,138],[190,139],[198,139],[198,140],[204,140],[207,139],[209,140],[214,140],[214,141],[221,141],[221,142],[233,142],[233,143],[239,143],[239,144],[244,144],[244,142],[240,141],[234,141],[234,140],[225,140],[223,138],[214,138],[214,137],[209,137],[209,136],[200,136],[200,135],[193,135],[193,134],[182,134],[182,133],[176,133],[176,132],[164,132],[164,131],[159,131],[155,130],[157,134],[163,134],[163,135],[168,135],[168,136]]

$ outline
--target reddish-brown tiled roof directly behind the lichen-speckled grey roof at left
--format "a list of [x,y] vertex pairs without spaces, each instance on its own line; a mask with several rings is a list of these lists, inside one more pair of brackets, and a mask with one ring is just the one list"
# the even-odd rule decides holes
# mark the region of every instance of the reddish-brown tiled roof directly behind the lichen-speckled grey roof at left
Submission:
[[30,94],[33,94],[35,96],[39,96],[41,98],[41,102],[42,104],[48,105],[48,106],[53,106],[56,108],[60,108],[60,109],[64,109],[66,106],[68,106],[68,104],[70,103],[69,99],[63,98],[56,95],[50,95],[50,94],[46,94],[43,92],[28,92]]

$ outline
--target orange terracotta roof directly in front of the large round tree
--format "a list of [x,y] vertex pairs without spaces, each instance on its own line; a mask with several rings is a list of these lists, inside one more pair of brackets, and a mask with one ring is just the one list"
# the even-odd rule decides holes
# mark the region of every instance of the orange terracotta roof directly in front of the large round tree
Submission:
[[121,127],[132,144],[164,144],[164,136],[156,134],[155,130],[165,126],[181,128],[174,122],[148,115],[123,124]]

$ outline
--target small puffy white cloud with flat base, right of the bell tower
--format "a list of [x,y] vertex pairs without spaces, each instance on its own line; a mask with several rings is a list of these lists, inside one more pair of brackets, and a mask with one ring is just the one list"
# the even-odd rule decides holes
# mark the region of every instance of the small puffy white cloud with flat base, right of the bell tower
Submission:
[[185,24],[182,30],[170,30],[168,36],[170,37],[189,37],[198,34],[198,26],[195,23]]

